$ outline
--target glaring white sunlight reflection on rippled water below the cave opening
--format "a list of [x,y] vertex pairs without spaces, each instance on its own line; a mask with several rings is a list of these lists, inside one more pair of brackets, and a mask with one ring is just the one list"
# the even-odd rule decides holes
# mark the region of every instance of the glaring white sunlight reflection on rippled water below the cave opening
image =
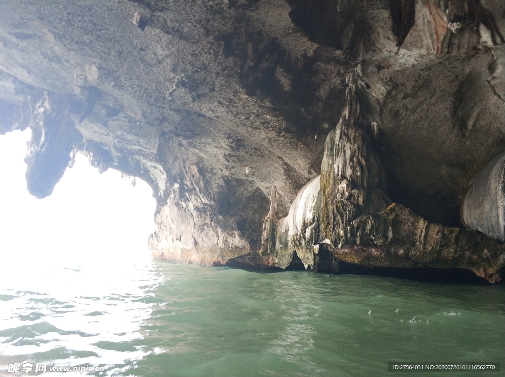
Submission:
[[126,343],[143,338],[140,326],[163,277],[147,260],[109,262],[24,263],[3,271],[0,373],[8,363],[25,361],[126,366],[149,353],[141,342]]

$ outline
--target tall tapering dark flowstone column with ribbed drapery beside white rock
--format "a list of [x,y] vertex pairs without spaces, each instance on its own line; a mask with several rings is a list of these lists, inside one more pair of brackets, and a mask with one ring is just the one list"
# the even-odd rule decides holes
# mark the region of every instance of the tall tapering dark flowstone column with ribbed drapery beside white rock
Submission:
[[348,241],[389,241],[390,225],[379,213],[391,201],[379,190],[381,174],[372,146],[356,127],[363,109],[356,93],[359,72],[347,79],[346,107],[328,134],[321,165],[321,239],[341,248]]

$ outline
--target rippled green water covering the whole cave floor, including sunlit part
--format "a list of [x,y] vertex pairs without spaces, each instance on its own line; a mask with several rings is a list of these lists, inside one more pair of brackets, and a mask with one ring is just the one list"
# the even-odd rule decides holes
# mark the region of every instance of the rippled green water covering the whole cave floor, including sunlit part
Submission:
[[[504,375],[503,285],[152,262],[5,271],[0,284],[0,375],[25,361],[104,366],[96,375]],[[501,371],[391,373],[389,361]]]

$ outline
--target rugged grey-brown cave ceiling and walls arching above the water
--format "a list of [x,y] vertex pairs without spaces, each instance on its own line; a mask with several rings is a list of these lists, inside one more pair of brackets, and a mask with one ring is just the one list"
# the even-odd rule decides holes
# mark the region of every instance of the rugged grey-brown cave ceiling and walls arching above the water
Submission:
[[325,249],[500,278],[503,243],[458,227],[505,150],[502,2],[6,0],[0,18],[0,131],[32,129],[37,197],[79,151],[153,187],[155,258],[317,270]]

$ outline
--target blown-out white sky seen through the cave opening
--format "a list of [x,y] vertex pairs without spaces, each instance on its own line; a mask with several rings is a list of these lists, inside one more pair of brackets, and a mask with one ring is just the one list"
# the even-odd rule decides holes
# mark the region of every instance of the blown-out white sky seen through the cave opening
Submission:
[[[53,194],[26,189],[30,131],[0,136],[0,266],[52,263],[65,267],[150,258],[155,199],[147,183],[133,187],[118,171],[103,174],[78,154]],[[7,263],[6,263],[7,262]]]

